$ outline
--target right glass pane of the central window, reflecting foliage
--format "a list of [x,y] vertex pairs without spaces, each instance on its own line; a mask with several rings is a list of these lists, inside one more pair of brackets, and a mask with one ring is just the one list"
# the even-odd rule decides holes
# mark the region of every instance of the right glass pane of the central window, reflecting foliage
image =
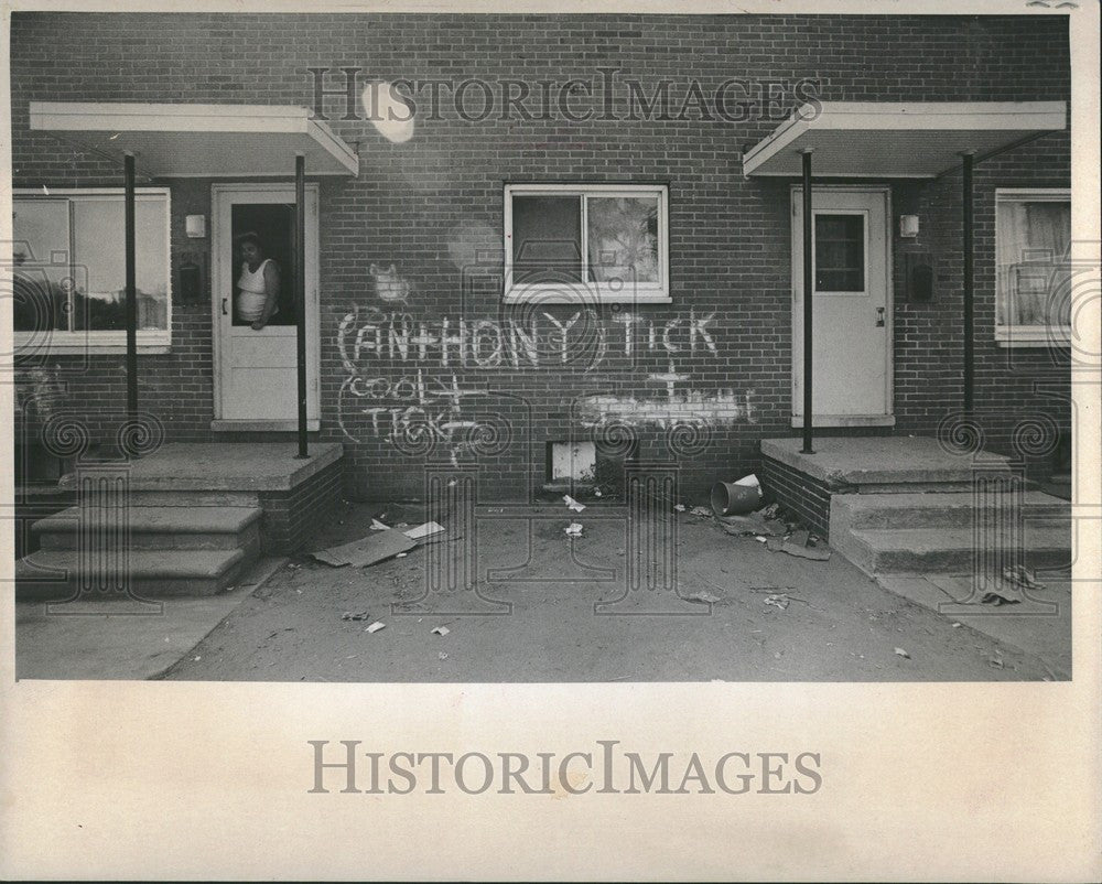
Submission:
[[590,279],[658,282],[658,197],[587,196]]

